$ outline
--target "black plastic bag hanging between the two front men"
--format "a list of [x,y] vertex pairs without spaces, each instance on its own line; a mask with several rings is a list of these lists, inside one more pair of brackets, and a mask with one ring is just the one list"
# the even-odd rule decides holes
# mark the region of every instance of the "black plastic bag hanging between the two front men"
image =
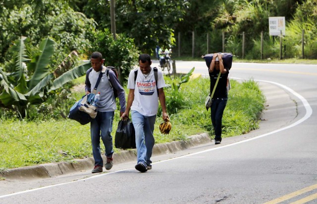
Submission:
[[121,149],[135,149],[135,131],[130,119],[120,120],[115,131],[114,146]]

